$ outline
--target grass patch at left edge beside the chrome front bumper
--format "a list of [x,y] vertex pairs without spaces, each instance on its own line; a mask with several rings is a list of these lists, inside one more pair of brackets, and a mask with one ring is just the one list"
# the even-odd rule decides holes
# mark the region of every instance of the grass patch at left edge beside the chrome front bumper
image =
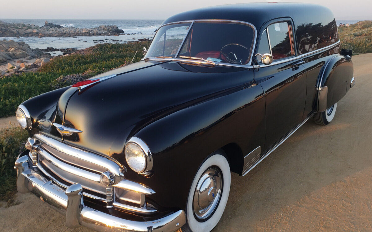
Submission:
[[13,169],[17,156],[25,150],[28,137],[20,127],[0,131],[0,200],[14,205],[16,193],[16,171]]

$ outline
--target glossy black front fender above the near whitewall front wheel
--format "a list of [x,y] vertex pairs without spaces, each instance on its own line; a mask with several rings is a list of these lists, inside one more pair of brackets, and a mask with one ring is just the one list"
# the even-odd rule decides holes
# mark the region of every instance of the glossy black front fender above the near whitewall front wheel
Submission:
[[[154,189],[155,202],[185,209],[192,180],[209,154],[230,143],[237,144],[243,154],[263,146],[263,90],[260,85],[243,87],[176,111],[135,135],[153,153],[153,176],[138,181]],[[243,167],[242,156],[233,159]]]

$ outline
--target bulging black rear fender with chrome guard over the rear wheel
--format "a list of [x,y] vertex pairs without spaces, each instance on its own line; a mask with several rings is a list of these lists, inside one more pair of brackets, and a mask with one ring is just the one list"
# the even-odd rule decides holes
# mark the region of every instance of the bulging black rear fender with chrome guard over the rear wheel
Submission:
[[353,62],[345,56],[335,54],[330,57],[319,74],[315,88],[315,110],[323,112],[343,98],[350,89],[353,78]]

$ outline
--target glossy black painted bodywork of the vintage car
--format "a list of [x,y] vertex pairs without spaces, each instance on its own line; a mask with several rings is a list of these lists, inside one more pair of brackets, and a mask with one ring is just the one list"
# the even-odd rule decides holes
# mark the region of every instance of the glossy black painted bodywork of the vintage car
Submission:
[[[313,25],[323,28],[334,20],[327,8],[313,4],[253,3],[194,10],[164,23],[240,20],[252,23],[260,35],[275,18],[293,20],[296,42],[323,36],[310,33],[315,33]],[[299,33],[299,25],[305,25],[307,33]],[[337,33],[333,34],[337,40]],[[323,45],[296,44],[296,52],[317,46]],[[24,104],[37,118],[35,125],[39,124],[31,134],[40,130],[61,140],[52,122],[82,130],[63,138],[64,143],[119,161],[127,167],[127,179],[155,190],[147,200],[158,209],[185,209],[193,177],[209,154],[219,148],[231,151],[227,158],[231,169],[239,173],[246,154],[258,146],[268,150],[314,111],[314,86],[325,63],[338,52],[335,46],[302,57],[303,65],[294,65],[301,61],[298,57],[257,69],[141,61],[95,76],[117,75],[82,91],[64,88]],[[350,74],[352,63],[340,64]],[[350,81],[348,76],[339,82],[336,76],[327,79],[327,84],[342,86]],[[144,140],[153,153],[151,177],[135,173],[126,164],[123,150],[132,136]]]

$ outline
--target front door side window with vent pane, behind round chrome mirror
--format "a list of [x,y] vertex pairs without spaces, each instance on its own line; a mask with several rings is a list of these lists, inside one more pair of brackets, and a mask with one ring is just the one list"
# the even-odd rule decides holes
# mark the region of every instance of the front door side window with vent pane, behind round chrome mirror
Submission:
[[294,56],[293,36],[289,23],[270,24],[262,33],[257,52],[269,53],[273,60]]

